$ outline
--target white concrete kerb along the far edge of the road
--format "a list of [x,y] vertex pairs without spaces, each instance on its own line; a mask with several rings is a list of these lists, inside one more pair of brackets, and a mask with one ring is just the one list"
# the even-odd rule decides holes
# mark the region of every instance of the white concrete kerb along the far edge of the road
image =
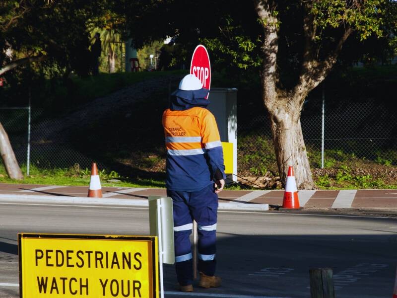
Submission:
[[[37,195],[4,195],[0,194],[1,203],[25,204],[62,204],[62,205],[101,205],[124,207],[148,207],[148,200],[139,199],[107,199],[68,196],[37,196]],[[238,202],[219,203],[219,210],[232,211],[267,211],[268,204],[244,204]]]

